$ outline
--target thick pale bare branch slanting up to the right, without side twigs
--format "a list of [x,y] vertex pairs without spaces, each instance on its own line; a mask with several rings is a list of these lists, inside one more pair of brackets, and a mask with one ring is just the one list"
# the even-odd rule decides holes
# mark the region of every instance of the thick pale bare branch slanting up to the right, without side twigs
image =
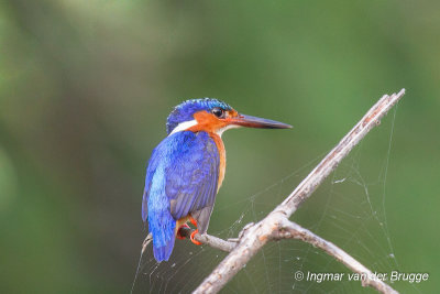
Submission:
[[[244,231],[238,246],[223,259],[212,273],[205,279],[196,288],[195,293],[219,292],[224,284],[228,283],[268,240],[271,240],[274,231],[282,227],[282,224],[284,224],[284,221],[296,211],[299,205],[316,190],[323,179],[370,130],[381,122],[382,117],[397,104],[404,94],[405,89],[402,89],[397,95],[383,96],[278,207],[270,213],[263,220]],[[338,258],[338,255],[334,257]],[[387,288],[377,290],[383,291],[383,293],[394,293],[387,292]]]

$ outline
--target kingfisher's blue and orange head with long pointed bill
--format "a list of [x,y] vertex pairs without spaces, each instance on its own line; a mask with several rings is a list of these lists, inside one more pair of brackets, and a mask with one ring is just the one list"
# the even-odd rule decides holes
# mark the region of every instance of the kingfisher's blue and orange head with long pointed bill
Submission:
[[289,129],[292,126],[237,112],[223,101],[213,98],[193,99],[176,106],[169,113],[166,131],[206,131],[221,135],[233,128]]

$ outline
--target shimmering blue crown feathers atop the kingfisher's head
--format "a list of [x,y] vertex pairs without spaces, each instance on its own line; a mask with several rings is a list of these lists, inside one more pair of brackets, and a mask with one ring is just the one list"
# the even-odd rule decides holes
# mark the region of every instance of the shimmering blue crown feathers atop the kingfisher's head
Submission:
[[216,107],[220,107],[224,110],[232,109],[232,107],[226,102],[215,98],[191,99],[179,104],[174,108],[166,120],[166,132],[169,134],[179,123],[194,120],[194,113],[201,110],[210,111]]

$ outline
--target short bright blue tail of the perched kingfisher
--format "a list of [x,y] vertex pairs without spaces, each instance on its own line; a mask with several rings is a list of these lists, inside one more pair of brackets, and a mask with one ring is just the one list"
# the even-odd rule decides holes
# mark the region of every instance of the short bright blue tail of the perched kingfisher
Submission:
[[152,215],[148,215],[148,230],[153,235],[154,258],[157,262],[168,261],[176,240],[176,220],[167,210],[151,218]]

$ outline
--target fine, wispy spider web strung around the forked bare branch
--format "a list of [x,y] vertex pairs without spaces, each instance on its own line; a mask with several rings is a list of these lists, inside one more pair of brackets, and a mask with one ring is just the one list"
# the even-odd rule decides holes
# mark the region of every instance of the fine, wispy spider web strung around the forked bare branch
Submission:
[[[292,218],[345,250],[372,272],[388,274],[400,271],[385,209],[395,115],[396,111],[391,122],[371,132]],[[369,139],[376,140],[371,140],[372,144]],[[363,160],[370,152],[377,161],[372,161],[371,156]],[[282,203],[326,154],[252,196],[218,202],[209,233],[222,239],[237,238],[246,224],[261,220]],[[216,215],[226,214],[235,220],[228,224],[222,219],[220,222],[227,227],[211,229]],[[178,240],[170,260],[156,263],[150,247],[140,261],[133,292],[189,293],[226,255],[208,246],[197,247]],[[345,273],[345,279],[319,282],[305,277],[299,281],[295,279],[298,271],[305,275],[309,272]],[[359,281],[349,281],[349,273],[333,258],[301,241],[268,242],[222,293],[375,293],[362,287]],[[391,284],[397,287],[399,283],[403,282]],[[417,285],[411,285],[419,292]]]

